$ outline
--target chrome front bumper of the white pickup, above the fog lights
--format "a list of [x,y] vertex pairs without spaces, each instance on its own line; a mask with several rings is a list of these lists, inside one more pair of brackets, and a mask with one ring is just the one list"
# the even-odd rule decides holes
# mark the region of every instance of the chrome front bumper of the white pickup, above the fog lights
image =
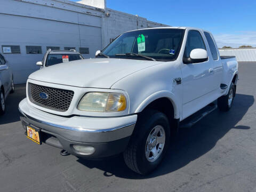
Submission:
[[66,139],[77,138],[78,142],[109,142],[129,137],[137,121],[137,115],[111,118],[61,117],[29,106],[26,99],[20,102],[19,110],[30,124],[39,125]]

